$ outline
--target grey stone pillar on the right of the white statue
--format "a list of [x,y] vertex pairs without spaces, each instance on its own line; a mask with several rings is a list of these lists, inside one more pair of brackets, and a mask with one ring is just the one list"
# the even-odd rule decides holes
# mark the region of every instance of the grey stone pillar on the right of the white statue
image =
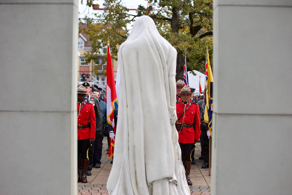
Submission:
[[291,194],[292,1],[213,6],[212,195]]

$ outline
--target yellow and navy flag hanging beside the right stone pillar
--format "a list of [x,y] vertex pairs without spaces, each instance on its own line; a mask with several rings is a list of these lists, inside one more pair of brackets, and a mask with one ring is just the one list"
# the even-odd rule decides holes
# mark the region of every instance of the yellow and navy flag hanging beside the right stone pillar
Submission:
[[213,111],[213,75],[210,66],[209,52],[206,51],[206,85],[205,85],[205,113],[204,121],[207,123],[212,137],[212,111]]

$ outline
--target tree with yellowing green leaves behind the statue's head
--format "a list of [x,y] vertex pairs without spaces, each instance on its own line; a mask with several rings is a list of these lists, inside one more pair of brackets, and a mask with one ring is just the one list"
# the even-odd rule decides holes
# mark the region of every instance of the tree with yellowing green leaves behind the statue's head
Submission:
[[[92,41],[92,51],[87,54],[88,60],[96,58],[95,54],[102,45],[106,45],[108,37],[112,45],[123,43],[129,34],[128,24],[137,16],[149,15],[160,34],[177,50],[177,80],[183,76],[185,50],[187,69],[196,69],[204,73],[206,47],[208,46],[209,53],[212,54],[213,45],[212,0],[150,1],[152,6],[145,8],[139,5],[136,14],[133,15],[128,13],[129,10],[121,1],[105,0],[103,7],[106,11],[96,14],[97,19],[86,19],[88,29],[85,33],[89,34]],[[92,0],[87,0],[86,3],[88,6],[94,6]],[[111,48],[112,56],[116,58],[117,50],[113,46]],[[210,62],[212,66],[212,60]]]

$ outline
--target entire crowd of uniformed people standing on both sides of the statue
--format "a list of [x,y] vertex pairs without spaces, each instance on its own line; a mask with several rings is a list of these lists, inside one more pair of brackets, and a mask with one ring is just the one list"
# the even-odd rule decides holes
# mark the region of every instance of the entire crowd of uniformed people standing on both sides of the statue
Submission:
[[[78,85],[77,91],[78,182],[87,183],[86,176],[91,175],[92,168],[101,167],[104,136],[107,137],[109,151],[110,139],[114,140],[115,135],[106,120],[106,102],[100,95],[100,89],[84,82]],[[194,91],[194,88],[184,85],[182,80],[176,82],[176,129],[188,185],[192,185],[189,173],[191,165],[195,164],[194,149],[197,142],[201,142],[199,159],[204,161],[202,168],[209,167],[210,134],[203,118],[204,96],[194,95]],[[117,109],[115,112],[117,115]]]

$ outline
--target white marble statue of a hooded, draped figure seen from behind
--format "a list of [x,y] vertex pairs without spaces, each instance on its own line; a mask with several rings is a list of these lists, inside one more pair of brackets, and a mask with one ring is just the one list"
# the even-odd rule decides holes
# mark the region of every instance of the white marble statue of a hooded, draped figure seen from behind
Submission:
[[174,125],[176,54],[149,16],[136,20],[120,46],[120,100],[109,194],[190,194]]

